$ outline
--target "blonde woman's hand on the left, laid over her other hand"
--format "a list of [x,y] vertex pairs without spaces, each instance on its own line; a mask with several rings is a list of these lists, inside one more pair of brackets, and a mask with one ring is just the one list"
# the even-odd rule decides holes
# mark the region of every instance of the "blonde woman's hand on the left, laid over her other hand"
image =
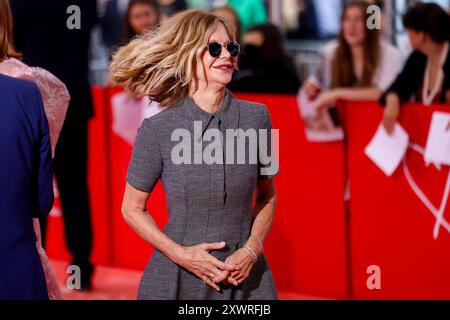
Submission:
[[232,271],[240,270],[238,266],[224,263],[209,253],[212,250],[223,249],[225,245],[225,242],[217,242],[184,247],[178,264],[202,279],[214,290],[220,291],[217,284],[227,279]]

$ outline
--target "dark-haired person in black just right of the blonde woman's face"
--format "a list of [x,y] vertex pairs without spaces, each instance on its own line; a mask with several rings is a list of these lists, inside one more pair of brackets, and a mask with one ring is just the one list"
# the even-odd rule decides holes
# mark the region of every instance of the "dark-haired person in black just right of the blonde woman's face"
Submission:
[[283,37],[273,24],[251,28],[243,37],[239,71],[229,89],[237,92],[296,93],[300,86],[292,58],[283,48]]

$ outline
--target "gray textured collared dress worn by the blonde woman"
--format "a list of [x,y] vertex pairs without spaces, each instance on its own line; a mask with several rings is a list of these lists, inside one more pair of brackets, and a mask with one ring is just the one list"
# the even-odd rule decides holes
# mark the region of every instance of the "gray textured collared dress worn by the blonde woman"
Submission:
[[[204,141],[207,129],[222,132],[221,156],[224,159],[231,150],[226,144],[225,137],[229,132],[226,129],[271,129],[270,116],[263,105],[239,101],[228,90],[221,108],[214,114],[202,110],[186,97],[179,104],[144,120],[133,148],[127,181],[139,190],[151,192],[161,179],[170,216],[164,233],[184,246],[225,241],[227,246],[224,249],[211,251],[213,256],[225,261],[245,244],[250,235],[252,194],[258,179],[272,176],[261,175],[263,165],[259,161],[249,161],[249,148],[246,148],[245,164],[237,164],[236,161],[235,164],[229,161],[224,161],[224,164],[195,162],[195,141],[192,141],[189,157],[192,164],[187,161],[177,164],[172,151],[181,138],[172,139],[172,133],[177,129],[186,129],[194,140],[196,121],[201,121],[200,135],[197,129],[197,138],[200,139],[197,140],[203,148],[210,145],[210,142]],[[277,299],[272,273],[264,255],[259,257],[249,278],[239,287],[220,285],[222,290],[219,293],[155,250],[142,276],[138,298]]]

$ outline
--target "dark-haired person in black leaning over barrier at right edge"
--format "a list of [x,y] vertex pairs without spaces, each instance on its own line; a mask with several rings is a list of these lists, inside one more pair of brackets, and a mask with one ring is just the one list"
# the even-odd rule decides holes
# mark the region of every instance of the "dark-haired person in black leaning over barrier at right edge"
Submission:
[[419,3],[403,17],[413,53],[381,97],[383,124],[394,130],[400,104],[414,98],[425,105],[450,103],[450,17],[435,3]]

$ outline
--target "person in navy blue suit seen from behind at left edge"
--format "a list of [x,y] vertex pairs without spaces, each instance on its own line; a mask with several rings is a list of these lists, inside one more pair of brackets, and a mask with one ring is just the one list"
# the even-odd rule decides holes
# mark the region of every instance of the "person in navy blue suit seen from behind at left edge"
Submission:
[[53,205],[48,122],[36,85],[1,74],[0,191],[0,300],[46,300],[32,218]]

